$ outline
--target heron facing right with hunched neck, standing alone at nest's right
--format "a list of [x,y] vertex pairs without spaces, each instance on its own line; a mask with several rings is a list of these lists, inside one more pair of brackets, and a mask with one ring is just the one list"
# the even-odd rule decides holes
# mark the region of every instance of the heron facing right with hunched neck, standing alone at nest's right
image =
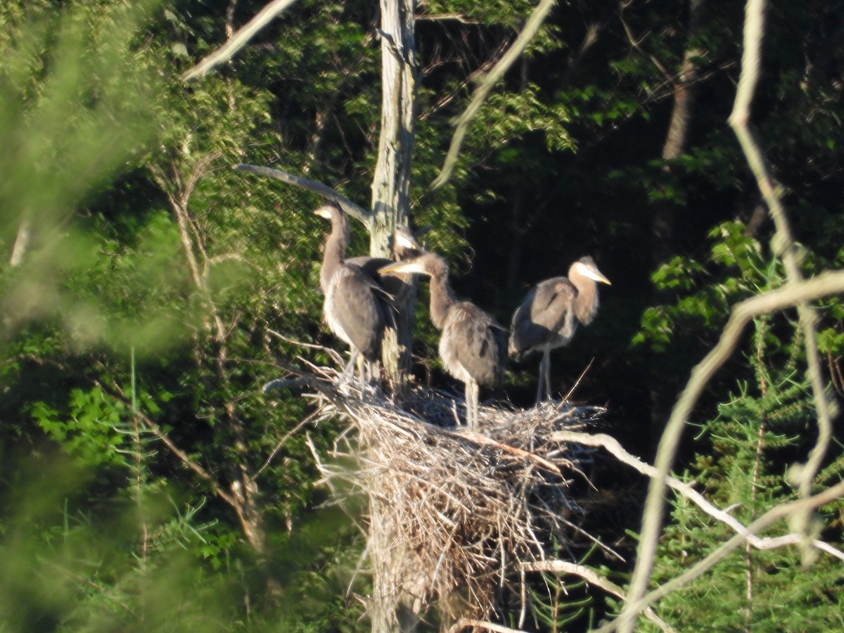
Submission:
[[532,352],[542,352],[539,362],[537,404],[551,395],[552,349],[567,345],[577,324],[588,325],[598,311],[598,284],[608,284],[592,257],[583,257],[571,264],[569,276],[553,277],[540,282],[522,301],[513,314],[508,351],[515,360]]

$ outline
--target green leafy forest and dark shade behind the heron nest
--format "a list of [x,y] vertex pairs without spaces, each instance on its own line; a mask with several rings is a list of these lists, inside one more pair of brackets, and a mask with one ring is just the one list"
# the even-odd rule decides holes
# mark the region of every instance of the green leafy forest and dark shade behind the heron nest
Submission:
[[[231,62],[181,81],[264,4],[0,7],[0,614],[15,629],[364,626],[348,592],[367,590],[353,573],[360,537],[336,509],[317,509],[312,485],[308,441],[327,452],[335,430],[289,434],[306,404],[258,394],[279,357],[328,362],[291,341],[335,344],[315,290],[324,227],[306,211],[317,198],[230,166],[277,165],[366,204],[380,132],[377,5],[300,0]],[[568,391],[595,358],[576,397],[609,402],[611,431],[641,454],[730,306],[783,280],[725,125],[742,7],[695,4],[692,20],[690,3],[560,3],[436,192],[452,118],[536,3],[429,2],[417,16],[414,225],[430,225],[425,241],[449,257],[457,294],[500,322],[527,286],[596,257],[614,286],[555,359],[555,383]],[[771,7],[754,111],[807,275],[844,265],[833,5]],[[689,50],[688,143],[666,159]],[[665,209],[674,230],[660,243],[653,220]],[[365,241],[354,227],[350,251]],[[420,374],[436,356],[425,310]],[[841,298],[820,315],[830,388],[844,392]],[[793,315],[755,326],[702,403],[698,419],[711,421],[679,456],[719,505],[740,503],[743,520],[793,494],[787,465],[814,433]],[[496,397],[532,398],[532,365],[511,367]],[[840,477],[837,455],[819,486]],[[636,522],[630,506],[619,538]],[[834,542],[840,511],[821,511]],[[726,536],[678,502],[660,577]],[[736,555],[663,615],[734,627],[730,599],[739,625],[840,627],[840,577],[826,560],[798,571],[794,556]],[[550,597],[538,627],[581,608],[560,587],[537,590]],[[796,587],[799,608],[783,587]]]

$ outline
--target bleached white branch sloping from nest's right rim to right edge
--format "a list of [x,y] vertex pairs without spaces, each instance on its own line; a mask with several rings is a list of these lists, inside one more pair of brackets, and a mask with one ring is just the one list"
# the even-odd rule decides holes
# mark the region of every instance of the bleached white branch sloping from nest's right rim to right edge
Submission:
[[[613,457],[618,459],[619,462],[625,463],[628,466],[635,468],[643,475],[646,475],[647,477],[657,476],[656,468],[652,467],[649,463],[642,462],[639,457],[636,457],[635,455],[631,455],[629,452],[626,452],[625,449],[621,446],[621,444],[619,444],[619,441],[612,436],[608,436],[603,433],[590,435],[588,433],[577,433],[576,431],[561,430],[553,433],[551,436],[549,436],[549,439],[583,444],[586,446],[601,446],[602,448],[606,449],[607,452],[612,454]],[[714,506],[709,500],[706,499],[704,495],[701,495],[700,492],[692,488],[690,484],[686,484],[685,482],[670,476],[665,479],[665,483],[668,484],[668,487],[677,490],[686,499],[692,501],[696,506],[701,508],[702,511],[705,511],[706,514],[708,514],[710,517],[722,523],[726,523],[729,527],[733,529],[735,533],[743,534],[744,537],[747,539],[748,544],[755,547],[756,549],[774,549],[777,547],[783,547],[785,545],[798,544],[803,538],[800,534],[797,533],[785,534],[779,537],[760,538],[754,533],[749,533],[748,528],[745,527],[742,522],[738,521],[737,518],[729,514],[728,511],[720,510],[719,508]],[[825,551],[827,554],[835,556],[837,559],[844,560],[844,552],[842,552],[840,549],[836,549],[828,543],[825,543],[824,541],[815,539],[812,542],[812,545],[814,545],[814,547],[816,547],[817,549]]]

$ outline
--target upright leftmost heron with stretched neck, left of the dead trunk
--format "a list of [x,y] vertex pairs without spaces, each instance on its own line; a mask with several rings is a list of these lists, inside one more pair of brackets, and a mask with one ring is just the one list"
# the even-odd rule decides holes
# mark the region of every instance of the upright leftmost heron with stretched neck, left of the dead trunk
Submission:
[[[361,381],[370,381],[372,366],[381,358],[381,339],[387,324],[383,290],[354,261],[344,261],[349,244],[349,219],[340,208],[326,204],[314,214],[331,220],[331,234],[325,242],[320,269],[320,287],[325,295],[322,311],[331,331],[349,344],[349,365],[343,378],[358,363]],[[368,361],[367,366],[363,360]]]

